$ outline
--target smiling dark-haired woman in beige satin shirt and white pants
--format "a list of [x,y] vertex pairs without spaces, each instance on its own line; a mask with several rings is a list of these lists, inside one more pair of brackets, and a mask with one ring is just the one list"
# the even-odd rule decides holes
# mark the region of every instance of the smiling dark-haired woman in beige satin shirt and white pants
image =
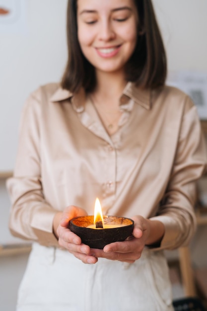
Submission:
[[[64,77],[26,102],[7,183],[10,230],[34,241],[17,310],[172,311],[163,249],[194,233],[207,163],[196,108],[165,86],[150,0],[70,0],[67,18]],[[134,238],[90,249],[69,231],[96,197]]]

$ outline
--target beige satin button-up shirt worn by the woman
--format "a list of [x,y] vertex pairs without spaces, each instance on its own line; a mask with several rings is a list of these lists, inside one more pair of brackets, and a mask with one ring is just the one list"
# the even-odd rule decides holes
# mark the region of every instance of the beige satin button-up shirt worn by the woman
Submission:
[[53,83],[28,98],[20,123],[9,227],[14,235],[58,246],[53,218],[66,206],[94,213],[157,219],[160,248],[189,241],[196,221],[195,180],[207,163],[197,110],[180,90],[140,90],[129,82],[120,98],[119,130],[111,137],[81,90]]

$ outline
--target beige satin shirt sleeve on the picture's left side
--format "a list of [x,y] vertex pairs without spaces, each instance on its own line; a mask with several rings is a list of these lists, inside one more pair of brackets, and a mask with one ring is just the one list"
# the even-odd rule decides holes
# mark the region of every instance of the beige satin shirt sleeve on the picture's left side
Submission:
[[16,165],[6,182],[11,198],[10,232],[17,237],[59,246],[53,233],[57,211],[45,200],[41,183],[40,102],[30,95],[23,107]]

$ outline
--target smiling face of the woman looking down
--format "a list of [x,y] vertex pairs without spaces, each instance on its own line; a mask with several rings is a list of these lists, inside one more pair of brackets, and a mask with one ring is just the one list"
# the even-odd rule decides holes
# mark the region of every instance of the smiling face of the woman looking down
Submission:
[[137,42],[134,0],[77,0],[78,41],[96,71],[123,72]]

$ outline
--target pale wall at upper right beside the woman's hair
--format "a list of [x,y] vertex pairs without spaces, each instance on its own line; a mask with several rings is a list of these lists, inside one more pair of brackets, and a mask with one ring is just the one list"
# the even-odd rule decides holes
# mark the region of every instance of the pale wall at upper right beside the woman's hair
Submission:
[[152,0],[163,34],[169,71],[207,72],[207,1]]

